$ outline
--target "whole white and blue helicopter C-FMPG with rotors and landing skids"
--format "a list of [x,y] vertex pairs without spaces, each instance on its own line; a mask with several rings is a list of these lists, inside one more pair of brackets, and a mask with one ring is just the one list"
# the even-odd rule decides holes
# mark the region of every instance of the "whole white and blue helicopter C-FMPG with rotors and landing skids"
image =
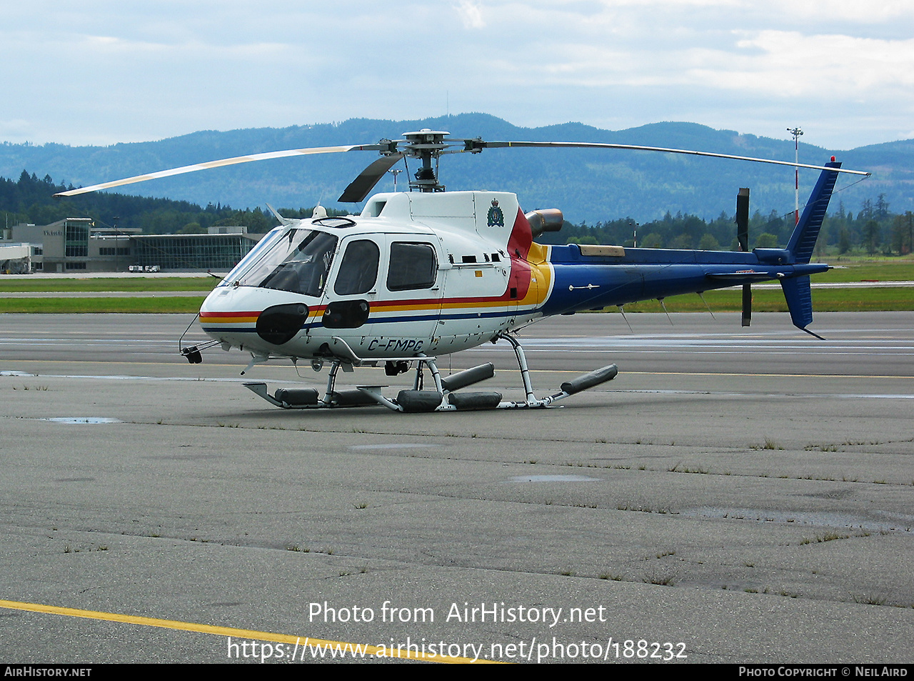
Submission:
[[[445,191],[439,182],[444,154],[479,154],[489,148],[598,148],[693,154],[813,168],[821,175],[785,248],[748,250],[749,190],[740,189],[737,225],[740,251],[638,249],[569,244],[544,246],[534,239],[558,231],[558,208],[524,212],[515,194],[502,191]],[[428,129],[377,144],[292,149],[186,165],[56,196],[143,182],[223,165],[294,155],[376,151],[380,154],[345,188],[341,202],[366,201],[357,215],[331,217],[324,207],[311,218],[284,218],[265,235],[207,296],[197,317],[211,338],[180,352],[188,362],[220,346],[250,353],[247,374],[257,364],[288,358],[314,371],[329,365],[323,394],[316,388],[278,388],[248,382],[260,398],[282,409],[338,409],[381,405],[399,412],[541,409],[615,378],[618,367],[600,367],[537,397],[524,348],[516,332],[538,319],[622,306],[681,293],[743,286],[743,325],[749,325],[749,286],[777,281],[793,325],[813,319],[810,275],[829,269],[811,263],[813,248],[839,173],[825,165],[793,164],[730,154],[628,144],[578,142],[486,142],[454,139]],[[420,162],[408,192],[368,197],[393,165]],[[195,318],[196,321],[196,318]],[[193,322],[191,323],[193,325]],[[190,326],[187,327],[188,330]],[[187,332],[185,332],[186,334]],[[494,376],[491,363],[442,376],[437,358],[485,343],[510,344],[525,391],[524,399],[503,399],[494,391],[469,388]],[[388,376],[415,370],[411,389],[396,398],[387,386],[337,390],[340,369],[383,365]],[[430,375],[427,381],[426,375]],[[430,385],[426,385],[426,383]]]

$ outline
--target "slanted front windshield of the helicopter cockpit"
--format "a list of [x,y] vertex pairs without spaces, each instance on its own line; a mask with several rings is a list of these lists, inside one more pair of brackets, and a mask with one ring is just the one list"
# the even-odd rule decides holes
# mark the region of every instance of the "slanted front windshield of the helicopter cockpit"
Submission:
[[314,229],[290,229],[239,280],[239,286],[319,297],[334,260],[336,237]]

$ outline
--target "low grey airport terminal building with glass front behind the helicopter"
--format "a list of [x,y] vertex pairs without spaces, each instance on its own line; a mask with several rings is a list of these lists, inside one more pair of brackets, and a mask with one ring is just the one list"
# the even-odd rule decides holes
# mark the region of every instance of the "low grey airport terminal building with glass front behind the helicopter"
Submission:
[[[3,230],[3,271],[78,272],[228,271],[263,236],[246,227],[212,227],[207,234],[143,235],[141,229],[96,228],[91,218],[66,218],[50,225],[20,223]],[[10,258],[2,254],[8,250]],[[28,252],[27,252],[28,251]],[[15,256],[15,258],[13,257]]]

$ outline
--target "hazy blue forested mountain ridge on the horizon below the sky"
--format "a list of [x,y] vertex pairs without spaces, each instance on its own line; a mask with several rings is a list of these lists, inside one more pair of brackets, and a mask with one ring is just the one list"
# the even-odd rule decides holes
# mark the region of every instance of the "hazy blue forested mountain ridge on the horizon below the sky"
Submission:
[[[685,122],[662,122],[624,131],[580,123],[519,128],[482,113],[422,121],[353,119],[334,124],[258,128],[226,133],[204,131],[157,142],[71,147],[63,144],[0,144],[0,176],[49,176],[56,182],[86,186],[145,172],[229,156],[311,146],[373,144],[420,128],[447,130],[455,137],[486,140],[581,141],[698,149],[721,154],[792,161],[790,140],[719,131]],[[807,131],[807,139],[814,132]],[[858,211],[879,195],[893,212],[914,209],[914,140],[876,144],[841,152],[801,144],[802,162],[821,164],[831,155],[845,167],[869,170],[864,182],[843,176],[839,202]],[[374,159],[373,153],[322,154],[219,168],[124,187],[147,197],[168,197],[200,206],[313,206],[357,210],[335,203],[345,186]],[[410,166],[415,172],[415,164]],[[801,172],[801,195],[808,195],[816,171]],[[399,177],[403,188],[404,177]],[[669,212],[717,218],[732,213],[740,186],[751,188],[752,210],[784,214],[793,207],[793,171],[781,166],[698,158],[675,154],[576,149],[490,149],[441,159],[441,181],[453,189],[515,192],[525,210],[560,207],[575,223],[591,224],[630,217],[645,222]],[[377,186],[393,188],[392,179]],[[801,200],[802,200],[801,197]]]

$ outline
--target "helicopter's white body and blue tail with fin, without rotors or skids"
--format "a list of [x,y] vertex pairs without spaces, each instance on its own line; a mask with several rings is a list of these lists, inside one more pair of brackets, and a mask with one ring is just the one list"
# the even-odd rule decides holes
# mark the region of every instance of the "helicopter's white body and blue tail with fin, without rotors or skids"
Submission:
[[774,280],[805,330],[809,275],[828,269],[810,256],[837,168],[823,171],[787,248],[751,252],[540,246],[534,237],[560,228],[561,212],[524,214],[508,192],[377,194],[351,217],[315,209],[282,218],[209,294],[200,324],[252,364],[353,367],[511,342],[543,316]]

